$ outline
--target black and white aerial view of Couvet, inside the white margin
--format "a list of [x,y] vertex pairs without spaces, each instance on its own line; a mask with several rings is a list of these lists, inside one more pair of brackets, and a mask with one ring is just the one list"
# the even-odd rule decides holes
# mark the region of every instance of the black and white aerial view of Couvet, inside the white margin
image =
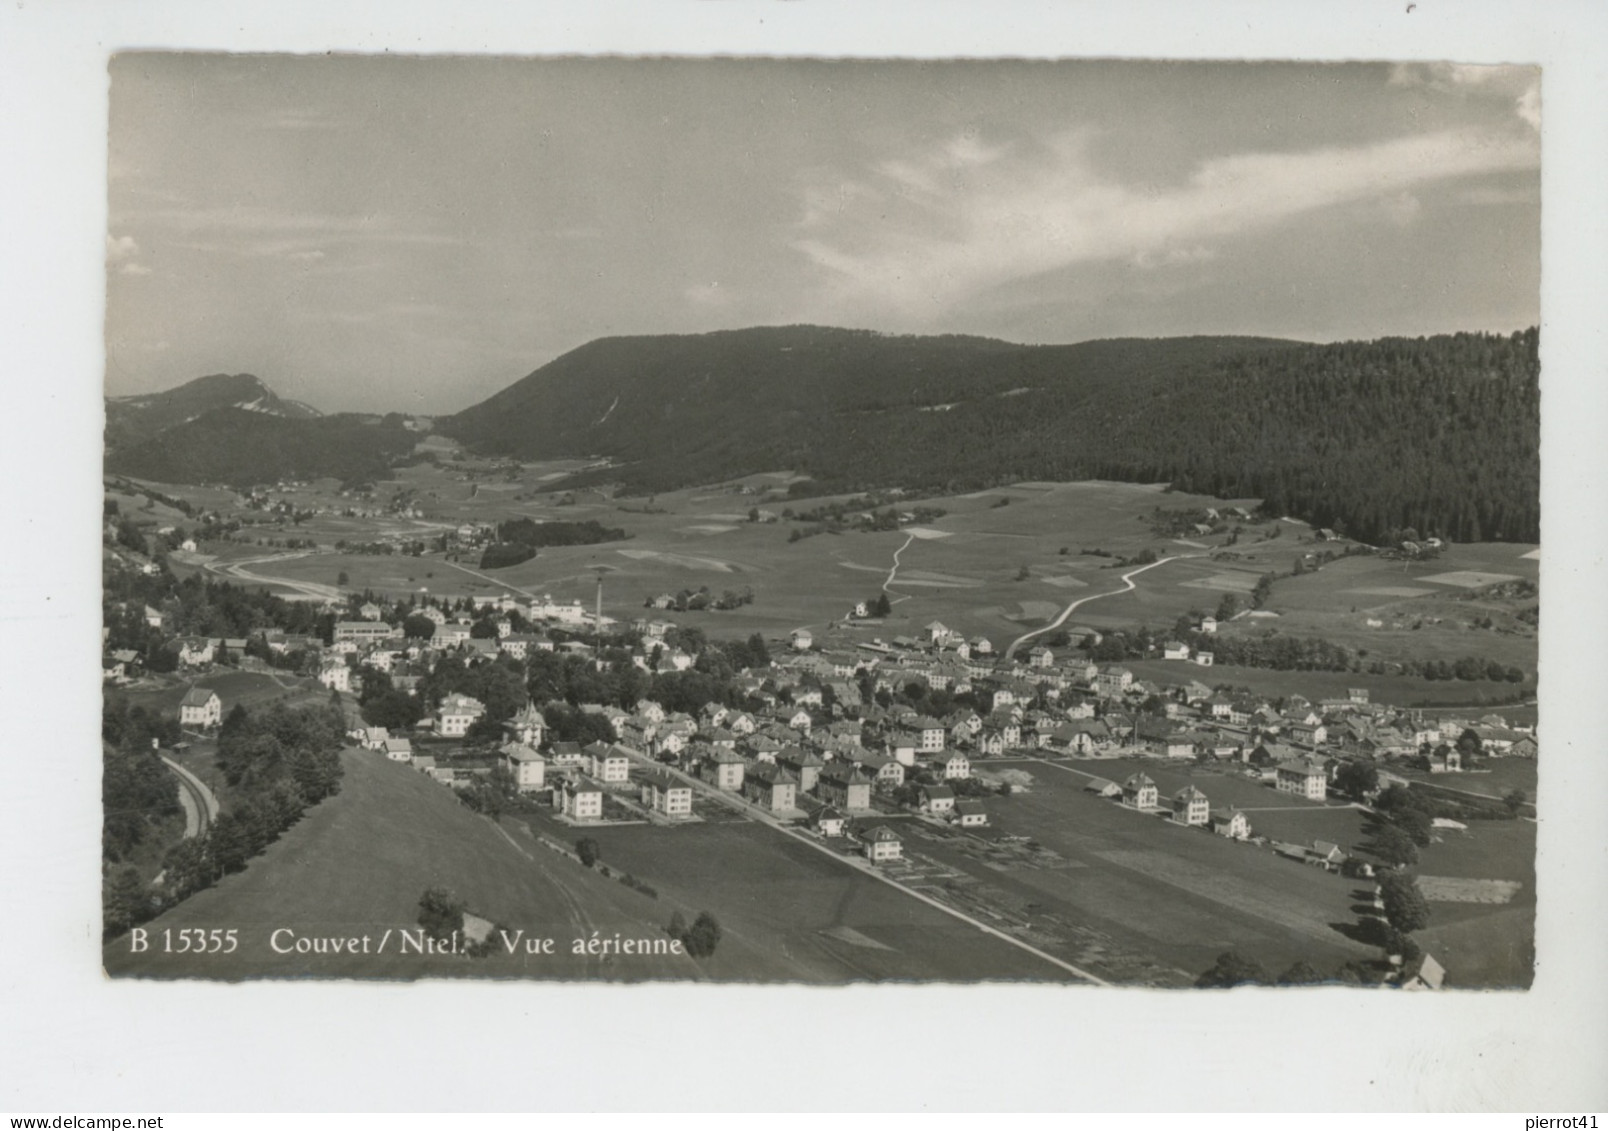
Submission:
[[1528,986],[1540,113],[117,55],[106,970]]

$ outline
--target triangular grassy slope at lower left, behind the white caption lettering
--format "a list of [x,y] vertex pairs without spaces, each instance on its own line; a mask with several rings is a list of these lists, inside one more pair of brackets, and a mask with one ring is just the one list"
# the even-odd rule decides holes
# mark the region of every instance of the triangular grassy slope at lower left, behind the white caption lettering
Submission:
[[[341,793],[312,809],[254,859],[146,925],[153,948],[133,954],[127,938],[109,943],[113,975],[162,978],[257,977],[523,977],[523,978],[699,978],[688,957],[577,957],[577,936],[662,938],[669,912],[654,899],[589,872],[470,812],[426,775],[363,751],[343,755]],[[484,960],[400,954],[396,932],[415,927],[420,895],[447,886],[470,911],[527,936],[552,936],[558,954]],[[172,928],[240,930],[233,954],[164,954]],[[368,936],[368,954],[277,954],[270,936]],[[384,952],[376,952],[386,930]],[[280,936],[281,944],[286,936]]]

